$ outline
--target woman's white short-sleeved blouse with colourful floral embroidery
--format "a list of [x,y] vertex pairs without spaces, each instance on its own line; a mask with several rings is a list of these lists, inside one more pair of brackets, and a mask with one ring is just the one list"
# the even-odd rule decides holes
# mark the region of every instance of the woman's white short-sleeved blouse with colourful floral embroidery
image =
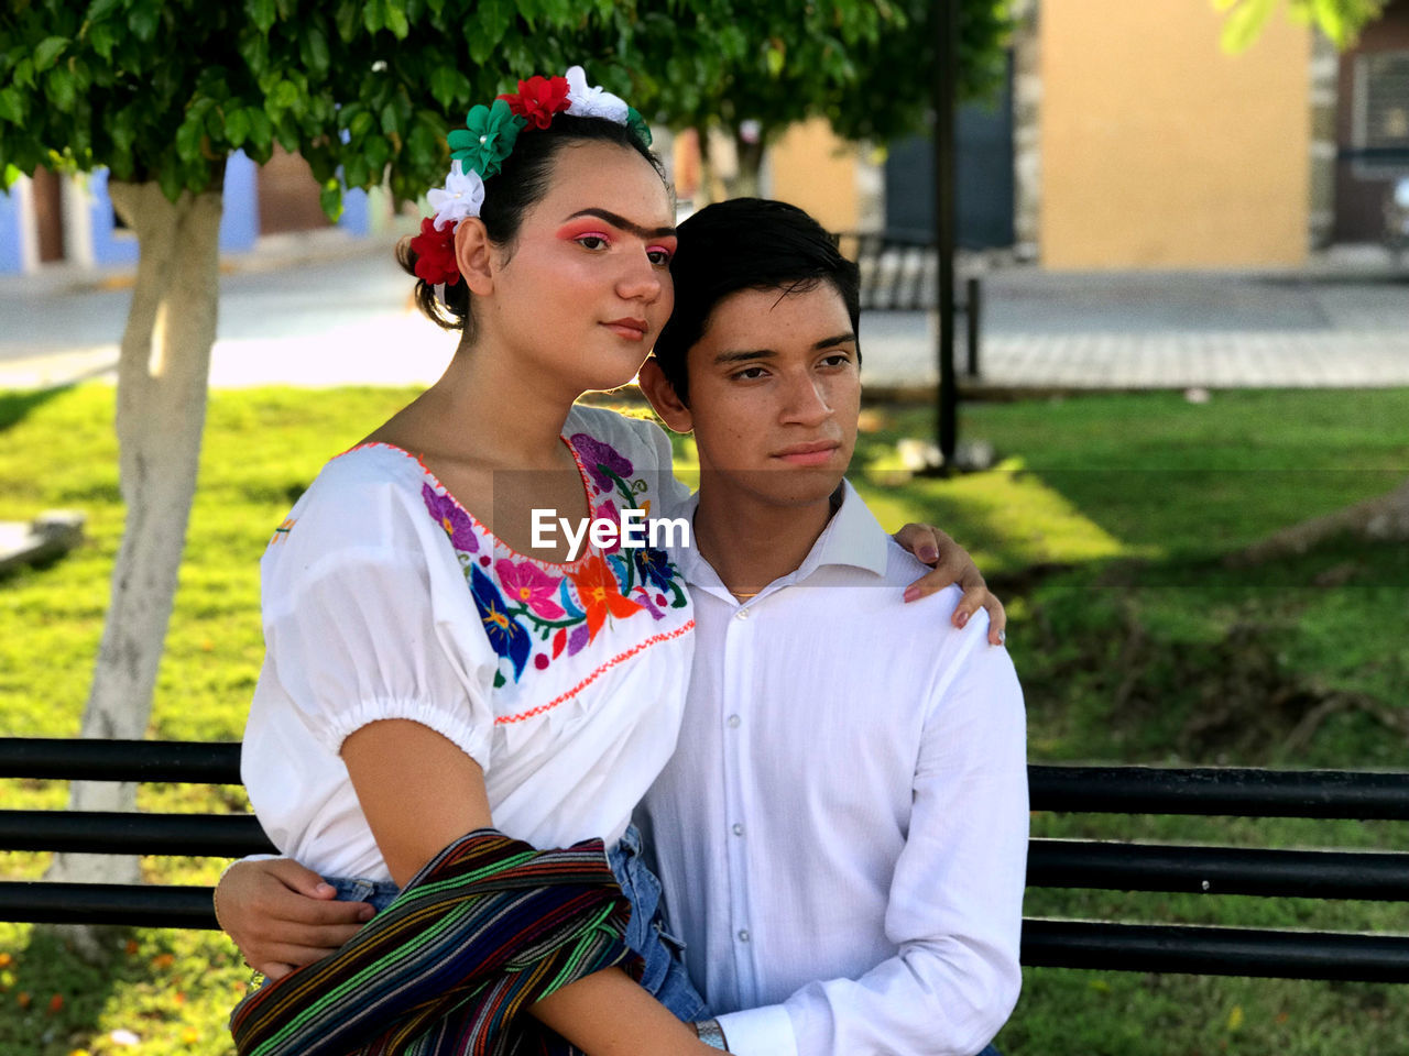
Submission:
[[[575,407],[564,442],[596,518],[681,498],[650,422]],[[495,824],[542,848],[614,843],[675,749],[695,621],[662,549],[519,555],[414,456],[372,444],[324,466],[261,579],[241,776],[279,850],[324,876],[390,879],[338,755],[368,722],[459,745]]]

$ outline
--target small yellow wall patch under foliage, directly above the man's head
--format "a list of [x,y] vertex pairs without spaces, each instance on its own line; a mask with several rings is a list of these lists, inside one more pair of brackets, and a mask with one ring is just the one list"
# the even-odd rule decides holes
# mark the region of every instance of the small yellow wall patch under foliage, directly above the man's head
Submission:
[[859,220],[857,146],[826,118],[792,125],[768,151],[769,197],[789,201],[828,231],[855,231]]

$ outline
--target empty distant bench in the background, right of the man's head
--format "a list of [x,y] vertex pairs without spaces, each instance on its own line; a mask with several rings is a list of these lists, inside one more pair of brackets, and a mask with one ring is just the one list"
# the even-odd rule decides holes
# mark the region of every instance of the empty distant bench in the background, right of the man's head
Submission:
[[[861,269],[861,311],[936,311],[938,252],[934,237],[905,231],[844,231],[837,235],[844,256]],[[978,375],[983,287],[978,277],[955,290],[954,313],[964,315],[965,370]]]

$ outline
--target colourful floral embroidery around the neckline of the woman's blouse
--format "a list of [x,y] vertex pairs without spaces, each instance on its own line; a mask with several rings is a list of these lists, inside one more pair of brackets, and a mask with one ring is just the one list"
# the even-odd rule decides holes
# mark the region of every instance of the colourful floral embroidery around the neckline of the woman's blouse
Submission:
[[[568,439],[590,486],[593,518],[620,522],[621,510],[641,510],[647,517],[648,484],[635,477],[635,467],[610,444],[585,432]],[[630,620],[647,614],[664,620],[668,610],[688,603],[679,570],[665,551],[654,546],[623,548],[619,541],[602,552],[590,552],[571,565],[548,565],[513,553],[489,535],[490,560],[482,553],[483,531],[448,493],[421,484],[426,510],[440,524],[455,548],[469,593],[479,608],[485,634],[514,681],[530,662],[547,669],[566,653],[576,656],[597,636],[609,620]],[[507,552],[510,556],[497,556]],[[488,574],[489,570],[493,576]],[[495,686],[509,681],[506,665]]]

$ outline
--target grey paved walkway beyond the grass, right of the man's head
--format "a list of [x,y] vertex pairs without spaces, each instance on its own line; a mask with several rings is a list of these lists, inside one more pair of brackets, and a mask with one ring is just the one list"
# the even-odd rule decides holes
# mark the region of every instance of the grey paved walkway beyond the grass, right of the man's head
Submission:
[[[983,298],[971,390],[1409,386],[1409,276],[1019,268],[988,275]],[[871,386],[938,377],[920,315],[864,318],[862,344]],[[955,355],[962,377],[962,334]]]

